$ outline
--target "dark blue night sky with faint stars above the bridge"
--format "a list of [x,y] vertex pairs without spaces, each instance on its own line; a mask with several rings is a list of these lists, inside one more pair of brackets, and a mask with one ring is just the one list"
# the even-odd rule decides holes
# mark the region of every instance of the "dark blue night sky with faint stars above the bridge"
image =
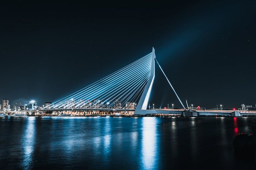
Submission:
[[[256,1],[0,6],[0,98],[61,99],[155,48],[183,104],[256,103]],[[150,104],[181,107],[156,66]]]

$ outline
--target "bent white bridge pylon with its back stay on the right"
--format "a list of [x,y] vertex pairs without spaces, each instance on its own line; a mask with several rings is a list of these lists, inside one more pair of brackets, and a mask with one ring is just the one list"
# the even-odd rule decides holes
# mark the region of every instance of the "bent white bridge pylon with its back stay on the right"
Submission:
[[[170,111],[170,110],[147,110],[147,106],[149,103],[149,97],[150,97],[150,93],[152,90],[152,86],[154,83],[154,79],[155,79],[155,61],[157,62],[159,68],[161,69],[161,71],[163,72],[163,74],[165,75],[163,69],[161,68],[161,66],[159,65],[158,61],[156,60],[156,56],[155,56],[155,49],[153,47],[152,50],[152,61],[151,61],[151,71],[150,71],[150,77],[149,80],[144,88],[144,91],[140,97],[140,100],[138,102],[138,105],[134,111],[134,114],[137,115],[145,115],[145,114],[173,114],[174,111]],[[183,103],[181,102],[179,96],[177,95],[176,91],[174,90],[173,86],[171,85],[170,81],[168,80],[167,76],[165,75],[166,80],[168,81],[168,83],[170,84],[172,90],[174,91],[175,95],[177,96],[177,98],[180,101],[180,104],[182,105],[183,108],[185,108],[185,106],[183,105]],[[176,112],[177,114],[177,112]]]

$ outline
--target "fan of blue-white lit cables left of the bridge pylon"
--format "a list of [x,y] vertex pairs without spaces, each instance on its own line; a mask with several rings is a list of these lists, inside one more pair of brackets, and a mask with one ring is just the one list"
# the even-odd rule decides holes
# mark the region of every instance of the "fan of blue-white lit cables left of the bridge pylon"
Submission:
[[[50,104],[49,109],[123,108],[134,103],[149,80],[152,52],[97,82]],[[45,107],[44,107],[45,109]]]

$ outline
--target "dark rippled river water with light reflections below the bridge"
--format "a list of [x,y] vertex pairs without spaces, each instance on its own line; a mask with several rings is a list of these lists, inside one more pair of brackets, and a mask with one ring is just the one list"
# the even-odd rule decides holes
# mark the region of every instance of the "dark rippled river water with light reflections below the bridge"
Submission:
[[255,118],[0,118],[0,169],[255,169],[233,138]]

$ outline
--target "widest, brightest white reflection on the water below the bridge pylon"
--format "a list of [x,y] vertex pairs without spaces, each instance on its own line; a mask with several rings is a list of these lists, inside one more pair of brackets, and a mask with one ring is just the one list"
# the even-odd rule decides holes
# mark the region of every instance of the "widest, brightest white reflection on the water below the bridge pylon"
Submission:
[[142,124],[142,169],[155,169],[158,162],[156,118],[144,117]]

